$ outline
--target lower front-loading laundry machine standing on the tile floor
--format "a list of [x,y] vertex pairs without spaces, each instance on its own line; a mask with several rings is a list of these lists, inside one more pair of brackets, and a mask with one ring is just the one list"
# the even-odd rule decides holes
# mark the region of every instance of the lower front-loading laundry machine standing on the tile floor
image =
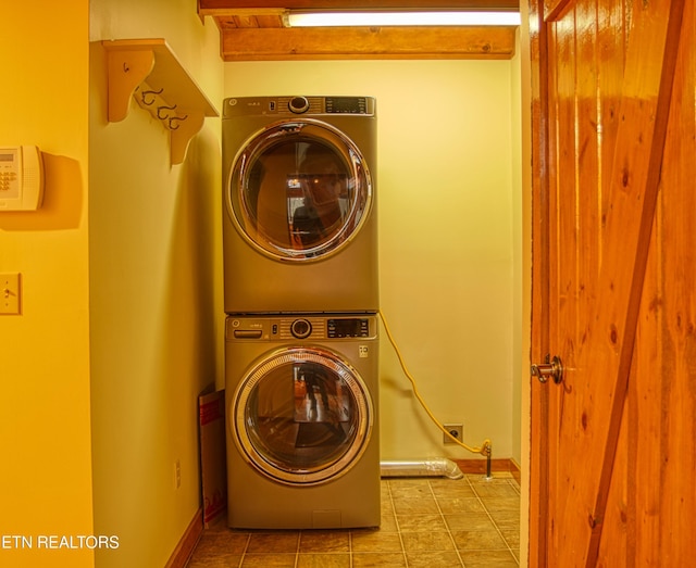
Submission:
[[229,316],[228,525],[380,525],[374,315]]

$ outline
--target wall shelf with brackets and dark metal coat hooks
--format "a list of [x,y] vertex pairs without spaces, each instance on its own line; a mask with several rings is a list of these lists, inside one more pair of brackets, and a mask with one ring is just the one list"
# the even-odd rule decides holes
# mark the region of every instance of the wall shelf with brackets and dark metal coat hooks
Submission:
[[101,42],[109,73],[109,122],[123,121],[130,98],[170,131],[173,164],[181,164],[207,116],[219,116],[164,39]]

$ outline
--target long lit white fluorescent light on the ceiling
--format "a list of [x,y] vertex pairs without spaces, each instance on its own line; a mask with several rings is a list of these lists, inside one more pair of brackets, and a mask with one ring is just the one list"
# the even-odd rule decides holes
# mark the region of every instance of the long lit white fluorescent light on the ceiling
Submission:
[[519,26],[520,13],[499,12],[288,12],[288,27]]

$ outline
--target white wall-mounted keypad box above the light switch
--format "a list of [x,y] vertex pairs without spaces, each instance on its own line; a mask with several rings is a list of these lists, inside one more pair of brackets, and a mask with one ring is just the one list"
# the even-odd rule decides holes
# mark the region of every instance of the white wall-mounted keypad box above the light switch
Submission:
[[0,213],[35,211],[44,199],[44,162],[35,146],[0,147]]

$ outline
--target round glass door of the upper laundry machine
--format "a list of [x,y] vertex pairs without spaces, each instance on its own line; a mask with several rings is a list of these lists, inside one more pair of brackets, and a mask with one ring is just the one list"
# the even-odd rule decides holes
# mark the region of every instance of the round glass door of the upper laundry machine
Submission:
[[311,262],[358,235],[372,195],[358,147],[330,124],[306,118],[275,123],[246,141],[226,201],[237,230],[259,252]]

